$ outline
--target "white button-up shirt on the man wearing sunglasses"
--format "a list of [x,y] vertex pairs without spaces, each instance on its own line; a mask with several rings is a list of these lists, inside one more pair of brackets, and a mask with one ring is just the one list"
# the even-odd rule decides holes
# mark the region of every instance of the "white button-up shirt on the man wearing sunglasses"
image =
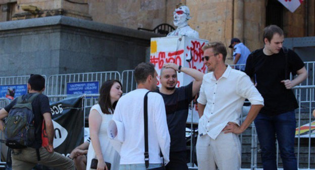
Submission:
[[205,74],[197,100],[205,105],[199,119],[199,135],[207,134],[216,139],[229,121],[240,125],[245,99],[252,105],[264,105],[263,97],[244,72],[228,66],[218,80],[214,72]]

